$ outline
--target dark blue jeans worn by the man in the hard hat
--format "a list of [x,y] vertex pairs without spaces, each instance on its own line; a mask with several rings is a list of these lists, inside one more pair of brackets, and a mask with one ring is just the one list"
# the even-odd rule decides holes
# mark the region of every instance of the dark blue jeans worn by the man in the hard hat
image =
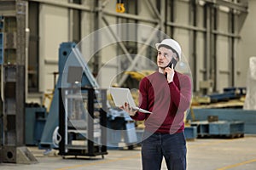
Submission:
[[186,169],[186,140],[184,133],[143,133],[143,170],[160,170],[163,157],[168,170]]

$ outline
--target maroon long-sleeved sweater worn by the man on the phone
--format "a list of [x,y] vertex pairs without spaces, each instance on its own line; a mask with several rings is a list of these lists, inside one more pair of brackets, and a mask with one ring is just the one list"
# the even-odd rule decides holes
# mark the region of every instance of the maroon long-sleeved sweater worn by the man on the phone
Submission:
[[187,75],[175,71],[173,82],[156,71],[139,85],[139,107],[152,114],[137,112],[132,119],[145,120],[145,130],[156,133],[179,133],[184,129],[184,112],[189,109],[191,82]]

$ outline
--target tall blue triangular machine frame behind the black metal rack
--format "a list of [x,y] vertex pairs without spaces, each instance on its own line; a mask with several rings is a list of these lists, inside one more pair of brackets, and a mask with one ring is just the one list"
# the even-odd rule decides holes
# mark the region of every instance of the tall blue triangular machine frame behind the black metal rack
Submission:
[[[73,74],[73,75],[68,75]],[[79,75],[77,75],[79,74]],[[55,84],[55,89],[58,88],[71,88],[73,81],[69,78],[78,77],[81,87],[98,88],[98,84],[94,77],[91,75],[90,70],[79,49],[76,48],[74,42],[63,42],[59,48],[59,77]],[[40,149],[51,149],[57,147],[53,143],[54,132],[56,127],[59,126],[59,91],[55,90],[52,103],[49,108],[47,121],[45,122],[44,131],[42,133]]]

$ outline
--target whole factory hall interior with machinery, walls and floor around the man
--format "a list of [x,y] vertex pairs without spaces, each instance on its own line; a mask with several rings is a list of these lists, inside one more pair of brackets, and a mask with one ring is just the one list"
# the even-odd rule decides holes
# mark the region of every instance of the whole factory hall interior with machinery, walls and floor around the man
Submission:
[[172,38],[192,86],[186,169],[255,170],[255,16],[255,0],[0,0],[0,169],[143,169],[147,120],[109,88],[138,105]]

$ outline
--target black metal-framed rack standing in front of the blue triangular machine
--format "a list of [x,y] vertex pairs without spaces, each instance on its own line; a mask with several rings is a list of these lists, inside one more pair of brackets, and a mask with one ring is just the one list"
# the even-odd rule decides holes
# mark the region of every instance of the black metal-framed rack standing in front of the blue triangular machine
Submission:
[[59,155],[99,156],[107,152],[106,89],[59,88]]

